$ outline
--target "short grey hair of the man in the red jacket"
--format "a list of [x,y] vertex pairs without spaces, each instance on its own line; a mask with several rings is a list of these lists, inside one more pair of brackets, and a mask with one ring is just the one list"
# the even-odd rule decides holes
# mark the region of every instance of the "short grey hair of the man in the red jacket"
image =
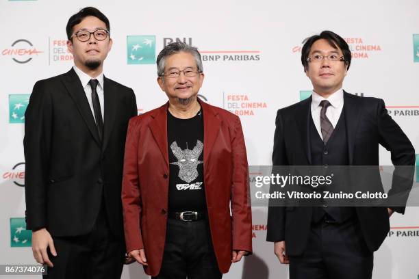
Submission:
[[166,66],[167,57],[176,53],[180,53],[180,52],[186,52],[186,53],[192,54],[195,58],[196,68],[198,68],[199,72],[203,72],[201,54],[199,53],[196,47],[191,47],[189,44],[186,44],[184,42],[172,42],[168,44],[166,47],[164,47],[164,49],[160,51],[159,55],[157,55],[156,64],[157,64],[157,75],[159,77],[162,77],[164,73],[164,67]]

